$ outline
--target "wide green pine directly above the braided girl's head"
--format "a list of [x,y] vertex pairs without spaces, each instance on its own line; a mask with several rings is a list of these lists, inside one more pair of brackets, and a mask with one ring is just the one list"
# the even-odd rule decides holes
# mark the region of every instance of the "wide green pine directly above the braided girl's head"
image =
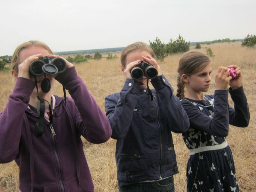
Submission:
[[190,42],[186,42],[182,36],[178,36],[176,39],[170,39],[166,45],[166,52],[168,54],[182,53],[189,51]]

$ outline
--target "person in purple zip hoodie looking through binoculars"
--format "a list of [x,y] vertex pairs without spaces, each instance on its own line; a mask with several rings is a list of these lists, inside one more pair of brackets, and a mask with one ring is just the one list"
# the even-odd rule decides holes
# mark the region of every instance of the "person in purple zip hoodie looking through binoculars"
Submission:
[[[13,53],[11,67],[16,84],[0,113],[0,163],[14,159],[18,164],[21,191],[93,191],[80,136],[92,143],[107,141],[112,132],[108,119],[75,67],[65,59],[65,72],[55,78],[38,76],[35,87],[29,65],[42,56],[60,58],[39,41],[23,43]],[[51,89],[43,92],[45,78],[51,84],[54,79],[59,81],[72,98],[65,101],[52,95]],[[45,101],[47,108],[43,111],[41,137],[35,134],[38,98]]]

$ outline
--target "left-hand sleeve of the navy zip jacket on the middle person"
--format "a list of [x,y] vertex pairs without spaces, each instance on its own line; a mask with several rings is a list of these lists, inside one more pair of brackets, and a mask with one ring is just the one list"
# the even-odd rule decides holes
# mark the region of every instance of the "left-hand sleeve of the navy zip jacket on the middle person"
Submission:
[[126,79],[120,94],[108,95],[105,98],[105,111],[112,128],[113,139],[124,139],[133,116],[140,82]]

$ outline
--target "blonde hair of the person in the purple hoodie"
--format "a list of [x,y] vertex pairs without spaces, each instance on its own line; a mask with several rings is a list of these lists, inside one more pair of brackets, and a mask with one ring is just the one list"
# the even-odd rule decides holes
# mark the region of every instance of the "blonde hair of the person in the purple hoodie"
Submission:
[[11,69],[14,70],[16,73],[18,73],[18,65],[20,64],[19,60],[20,60],[21,50],[29,48],[31,46],[43,47],[50,54],[53,53],[52,50],[46,44],[44,44],[43,42],[40,42],[40,41],[33,40],[33,41],[28,41],[28,42],[20,44],[13,52],[12,62],[11,62]]

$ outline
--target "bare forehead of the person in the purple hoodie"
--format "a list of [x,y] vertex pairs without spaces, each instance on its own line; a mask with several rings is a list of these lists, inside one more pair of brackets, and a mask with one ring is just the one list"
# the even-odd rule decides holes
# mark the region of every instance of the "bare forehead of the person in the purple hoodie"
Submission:
[[27,59],[29,56],[32,55],[36,55],[36,54],[40,54],[42,53],[43,56],[46,56],[48,54],[50,54],[50,52],[48,52],[47,49],[45,49],[44,47],[39,47],[39,46],[30,46],[27,47],[25,49],[22,49],[20,51],[19,57],[20,57],[20,62],[24,61],[25,59]]

